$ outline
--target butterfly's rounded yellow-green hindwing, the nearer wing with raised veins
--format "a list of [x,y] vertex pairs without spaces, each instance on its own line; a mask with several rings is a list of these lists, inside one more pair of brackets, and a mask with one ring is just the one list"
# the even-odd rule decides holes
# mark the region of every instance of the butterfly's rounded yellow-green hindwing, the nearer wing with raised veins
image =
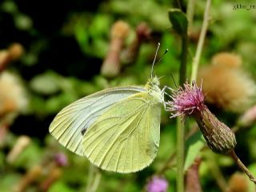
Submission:
[[130,173],[154,160],[160,140],[162,104],[134,94],[106,110],[86,131],[85,155],[103,170]]

